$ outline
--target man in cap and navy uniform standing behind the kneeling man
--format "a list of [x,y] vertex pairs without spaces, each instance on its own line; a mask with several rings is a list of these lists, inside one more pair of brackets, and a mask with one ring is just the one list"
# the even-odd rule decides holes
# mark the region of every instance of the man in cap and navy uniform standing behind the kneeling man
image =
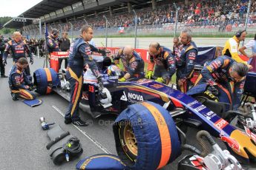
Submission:
[[[22,34],[19,32],[13,33],[13,40],[10,40],[7,42],[7,46],[4,50],[3,55],[3,64],[7,64],[7,56],[8,53],[12,52],[13,55],[13,61],[14,63],[17,63],[19,58],[26,58],[26,53],[28,57],[30,58],[30,63],[33,64],[33,55],[30,51],[30,48],[27,46],[24,41],[22,41]],[[30,75],[30,67],[27,65],[25,67],[26,75]]]

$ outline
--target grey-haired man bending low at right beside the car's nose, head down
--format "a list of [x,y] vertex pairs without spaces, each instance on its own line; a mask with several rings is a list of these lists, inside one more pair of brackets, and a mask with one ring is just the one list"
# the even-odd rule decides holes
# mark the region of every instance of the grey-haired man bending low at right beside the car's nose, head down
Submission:
[[197,85],[209,84],[207,89],[217,96],[220,102],[230,103],[232,109],[236,110],[240,106],[240,97],[248,71],[246,64],[237,63],[229,56],[223,55],[203,67],[191,90],[197,90]]

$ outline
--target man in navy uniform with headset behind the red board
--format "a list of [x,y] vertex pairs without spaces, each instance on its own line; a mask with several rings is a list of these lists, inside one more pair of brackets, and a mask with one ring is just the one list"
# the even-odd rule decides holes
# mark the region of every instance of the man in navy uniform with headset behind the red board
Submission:
[[49,53],[54,51],[60,51],[58,38],[59,38],[59,30],[57,30],[56,28],[53,28],[53,30],[51,30],[50,32],[50,35],[48,35],[46,38],[47,49]]

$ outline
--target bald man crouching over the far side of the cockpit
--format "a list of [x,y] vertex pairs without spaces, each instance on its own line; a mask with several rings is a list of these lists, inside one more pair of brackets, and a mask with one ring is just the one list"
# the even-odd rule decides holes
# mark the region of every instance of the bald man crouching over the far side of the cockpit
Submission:
[[119,62],[122,62],[123,67],[119,69],[125,72],[122,78],[118,81],[126,81],[128,78],[143,78],[144,77],[144,61],[140,55],[132,49],[131,46],[125,46],[119,49],[117,54],[114,56],[114,63],[120,66]]

